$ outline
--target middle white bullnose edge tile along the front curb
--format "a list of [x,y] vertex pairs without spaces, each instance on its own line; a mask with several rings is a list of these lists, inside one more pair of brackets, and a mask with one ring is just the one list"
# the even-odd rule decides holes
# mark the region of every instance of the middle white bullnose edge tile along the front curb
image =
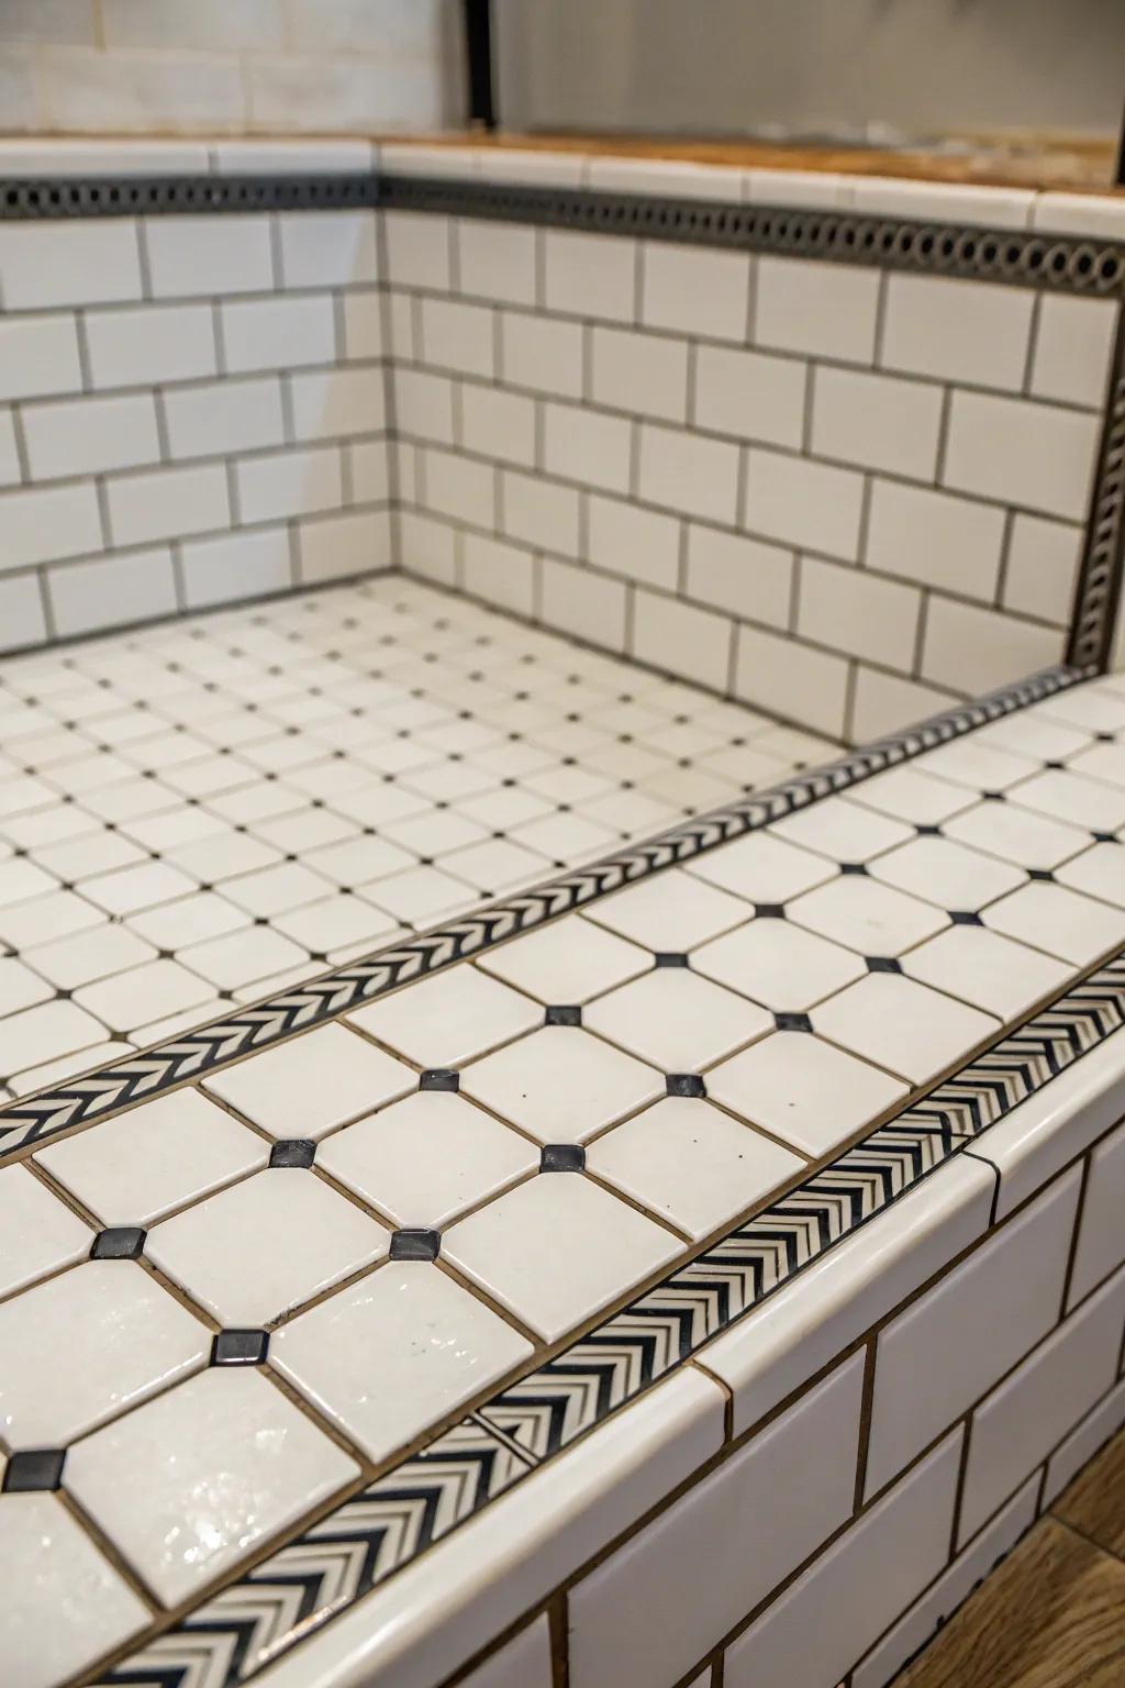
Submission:
[[995,1180],[965,1156],[882,1212],[710,1342],[700,1364],[734,1394],[732,1435],[799,1389],[833,1354],[988,1229]]

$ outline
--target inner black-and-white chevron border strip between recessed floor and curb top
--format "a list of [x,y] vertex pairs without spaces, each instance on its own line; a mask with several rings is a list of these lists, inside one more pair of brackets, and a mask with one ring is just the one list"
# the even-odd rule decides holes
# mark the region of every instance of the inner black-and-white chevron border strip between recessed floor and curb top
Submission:
[[223,1020],[128,1055],[96,1072],[20,1097],[0,1114],[0,1163],[59,1131],[98,1117],[108,1119],[132,1102],[150,1101],[251,1050],[297,1036],[403,984],[439,972],[469,955],[481,955],[504,939],[584,908],[651,873],[729,844],[746,832],[781,820],[796,809],[860,785],[875,773],[884,773],[975,728],[1041,702],[1091,675],[1090,668],[1044,668],[999,692],[970,704],[958,704],[914,728],[850,751],[823,768],[756,792],[727,809],[698,815],[627,851],[606,856],[504,901],[487,903],[435,932],[423,932],[406,944],[374,950],[282,996],[241,1008]]

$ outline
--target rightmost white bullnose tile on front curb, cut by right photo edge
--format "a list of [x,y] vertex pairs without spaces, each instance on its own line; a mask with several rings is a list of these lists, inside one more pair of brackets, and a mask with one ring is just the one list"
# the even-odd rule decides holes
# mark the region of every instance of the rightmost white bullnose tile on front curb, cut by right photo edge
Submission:
[[1125,1036],[1110,1036],[990,1126],[968,1153],[1000,1175],[995,1219],[1083,1155],[1125,1114]]

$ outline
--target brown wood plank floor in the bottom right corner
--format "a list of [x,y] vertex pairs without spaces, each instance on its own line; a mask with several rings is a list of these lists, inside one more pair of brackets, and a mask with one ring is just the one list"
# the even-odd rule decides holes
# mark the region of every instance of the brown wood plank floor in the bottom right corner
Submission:
[[894,1688],[1123,1688],[1125,1431]]

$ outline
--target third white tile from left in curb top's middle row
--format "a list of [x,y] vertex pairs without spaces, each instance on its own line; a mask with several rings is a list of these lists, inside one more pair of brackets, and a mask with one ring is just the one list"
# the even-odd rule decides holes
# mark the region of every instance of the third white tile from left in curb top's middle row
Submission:
[[396,1225],[425,1231],[447,1225],[538,1163],[538,1144],[450,1090],[418,1090],[346,1126],[317,1151],[317,1166]]

